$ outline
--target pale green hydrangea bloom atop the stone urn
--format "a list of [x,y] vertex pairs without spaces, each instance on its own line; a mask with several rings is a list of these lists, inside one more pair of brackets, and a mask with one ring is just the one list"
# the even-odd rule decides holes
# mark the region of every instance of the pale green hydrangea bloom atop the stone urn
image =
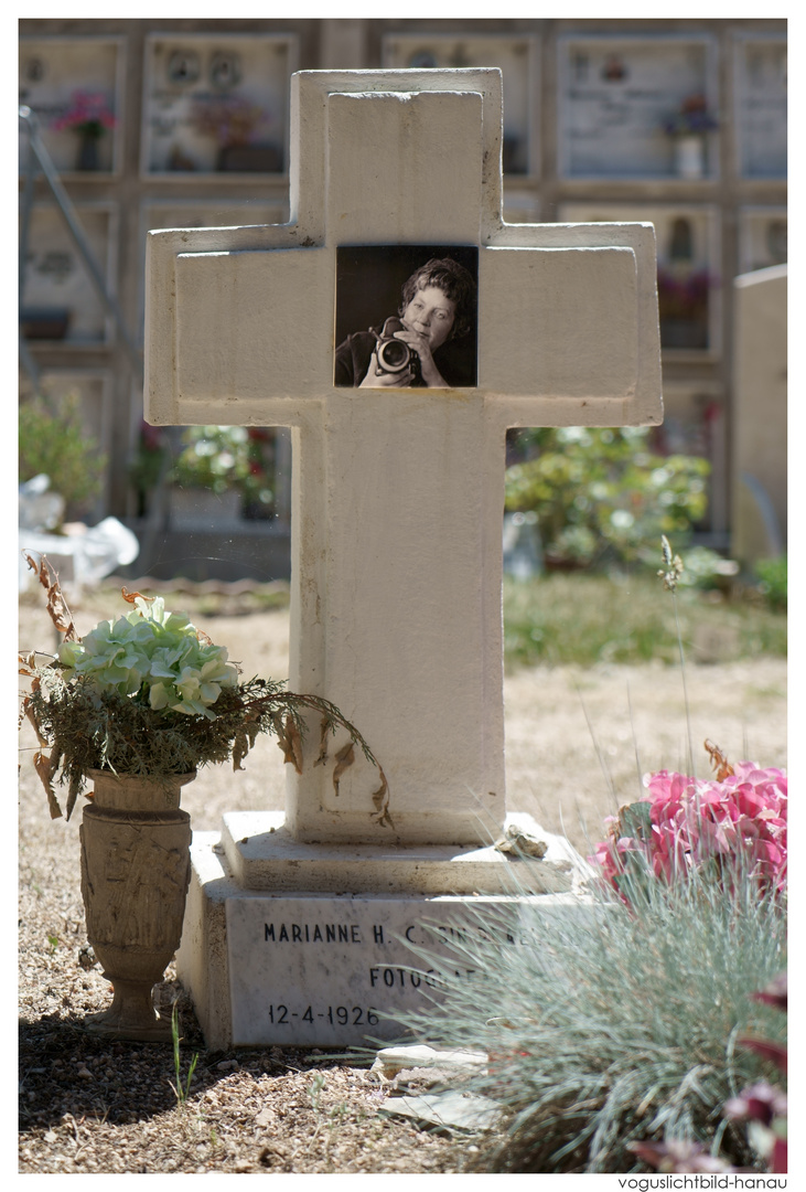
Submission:
[[58,660],[68,679],[83,676],[98,691],[208,720],[221,689],[238,682],[226,650],[202,641],[186,614],[169,613],[161,596],[136,596],[135,608],[117,621],[101,621],[81,641],[63,642]]

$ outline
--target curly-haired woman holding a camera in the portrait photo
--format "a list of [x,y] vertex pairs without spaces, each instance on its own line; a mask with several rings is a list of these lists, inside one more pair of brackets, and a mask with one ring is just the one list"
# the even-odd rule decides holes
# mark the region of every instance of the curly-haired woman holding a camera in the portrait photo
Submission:
[[[399,318],[357,331],[336,349],[335,384],[358,389],[475,385],[461,341],[475,327],[476,284],[452,257],[432,257],[402,287]],[[450,350],[445,350],[450,346]]]

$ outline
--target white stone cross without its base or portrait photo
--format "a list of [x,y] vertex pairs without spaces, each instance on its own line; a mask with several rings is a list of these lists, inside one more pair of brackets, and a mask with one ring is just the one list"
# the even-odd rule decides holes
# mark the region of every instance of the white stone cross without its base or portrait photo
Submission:
[[[292,428],[289,687],[337,703],[388,778],[393,827],[363,758],[338,789],[313,765],[313,725],[299,842],[500,832],[506,430],[662,417],[652,226],[505,224],[501,116],[498,70],[302,72],[290,222],[149,234],[145,416]],[[477,246],[476,387],[335,387],[355,244]]]

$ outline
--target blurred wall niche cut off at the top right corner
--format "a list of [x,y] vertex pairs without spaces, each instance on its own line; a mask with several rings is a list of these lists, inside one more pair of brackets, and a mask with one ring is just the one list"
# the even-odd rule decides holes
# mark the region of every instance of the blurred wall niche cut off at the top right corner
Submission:
[[787,176],[787,43],[737,37],[733,73],[738,174]]

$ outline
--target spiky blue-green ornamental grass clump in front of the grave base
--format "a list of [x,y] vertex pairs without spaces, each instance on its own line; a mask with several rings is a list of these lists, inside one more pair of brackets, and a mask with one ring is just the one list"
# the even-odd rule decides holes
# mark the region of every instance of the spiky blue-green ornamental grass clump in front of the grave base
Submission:
[[439,995],[405,1025],[418,1043],[486,1051],[463,1087],[505,1110],[475,1169],[646,1171],[627,1143],[669,1138],[763,1169],[721,1106],[777,1076],[737,1041],[786,1030],[751,998],[786,968],[786,902],[760,896],[738,861],[730,889],[694,874],[637,886],[631,906],[601,887],[576,908],[532,899],[480,912],[448,960],[420,951],[413,967],[442,974]]

